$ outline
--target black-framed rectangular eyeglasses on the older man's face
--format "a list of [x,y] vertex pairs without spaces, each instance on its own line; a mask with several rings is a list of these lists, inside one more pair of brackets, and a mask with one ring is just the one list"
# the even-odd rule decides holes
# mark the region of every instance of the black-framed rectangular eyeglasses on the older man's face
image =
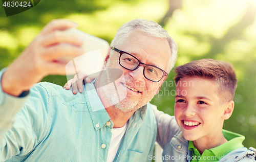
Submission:
[[140,62],[136,57],[133,55],[120,51],[114,47],[111,48],[112,50],[118,52],[120,54],[119,57],[119,64],[130,71],[135,71],[140,65],[144,66],[143,75],[146,79],[159,82],[164,76],[167,76],[167,73],[153,65],[147,65]]

